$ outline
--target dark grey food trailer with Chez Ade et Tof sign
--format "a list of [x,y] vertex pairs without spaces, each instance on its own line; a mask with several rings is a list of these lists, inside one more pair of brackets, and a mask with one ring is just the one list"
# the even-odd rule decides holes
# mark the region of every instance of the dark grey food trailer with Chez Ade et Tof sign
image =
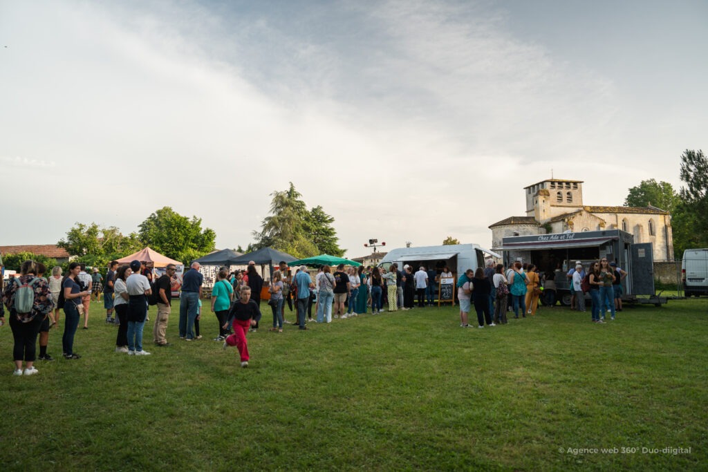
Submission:
[[[622,281],[622,301],[627,303],[666,304],[654,289],[653,252],[651,243],[634,243],[634,236],[619,229],[584,231],[581,233],[508,236],[502,239],[504,265],[519,258],[535,264],[541,273],[556,274],[556,299],[563,305],[571,300],[568,271],[581,261],[588,269],[591,262],[607,258],[627,272]],[[586,298],[589,298],[586,296]]]

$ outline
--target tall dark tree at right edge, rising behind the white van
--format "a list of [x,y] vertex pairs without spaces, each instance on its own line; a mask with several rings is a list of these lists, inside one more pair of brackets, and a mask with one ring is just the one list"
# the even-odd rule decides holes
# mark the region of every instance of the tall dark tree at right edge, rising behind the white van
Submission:
[[687,248],[708,246],[708,159],[703,151],[684,151],[680,177],[686,186],[680,188],[681,202],[671,221],[677,257]]

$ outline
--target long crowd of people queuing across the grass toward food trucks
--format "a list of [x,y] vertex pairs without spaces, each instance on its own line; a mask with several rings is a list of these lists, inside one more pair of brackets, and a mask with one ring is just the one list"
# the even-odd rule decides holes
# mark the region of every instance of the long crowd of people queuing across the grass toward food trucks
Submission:
[[[143,349],[144,325],[148,321],[149,305],[156,305],[157,314],[153,326],[153,340],[158,347],[170,344],[166,338],[167,324],[171,314],[172,293],[181,289],[179,313],[179,337],[185,341],[202,338],[199,329],[202,306],[203,276],[200,265],[193,263],[178,280],[176,267],[170,264],[164,275],[152,280],[152,270],[144,263],[133,260],[119,265],[112,261],[108,274],[103,278],[89,276],[86,267],[70,263],[67,275],[62,277],[61,267],[54,267],[48,279],[44,277],[47,267],[32,260],[25,261],[21,274],[2,290],[0,323],[5,321],[4,308],[8,309],[14,338],[13,360],[15,375],[33,375],[36,343],[39,336],[39,359],[54,360],[47,353],[50,329],[58,326],[61,311],[64,312],[62,350],[64,359],[80,359],[74,350],[74,336],[84,316],[84,329],[88,329],[91,294],[96,284],[101,284],[106,322],[118,325],[115,351],[127,355],[147,356]],[[94,271],[96,272],[96,271]],[[510,267],[486,262],[486,267],[467,270],[457,280],[460,326],[469,327],[469,311],[474,306],[477,326],[496,326],[508,323],[508,312],[514,318],[535,316],[539,301],[546,306],[556,304],[556,277],[559,270],[539,273],[533,264],[520,261]],[[622,311],[622,284],[627,276],[615,263],[602,258],[590,267],[580,261],[566,274],[571,282],[571,309],[585,311],[585,294],[592,299],[592,321],[604,323],[605,312],[614,320],[616,311]],[[283,326],[290,324],[285,317],[285,304],[293,311],[292,324],[307,330],[307,323],[331,323],[333,318],[346,319],[384,311],[406,311],[416,307],[431,306],[436,299],[440,277],[452,277],[448,267],[438,272],[433,268],[404,265],[399,270],[396,263],[388,270],[383,267],[337,267],[323,265],[314,278],[308,267],[302,266],[290,276],[285,262],[279,264],[267,291],[268,305],[273,314],[270,331],[282,333]],[[249,362],[246,333],[259,328],[262,318],[261,292],[264,281],[251,261],[246,270],[229,272],[222,267],[217,282],[212,287],[210,309],[218,321],[219,330],[215,341],[223,343],[224,349],[237,347],[242,367]],[[416,302],[417,299],[417,302]],[[400,307],[400,308],[399,308]],[[314,316],[313,316],[314,313]]]

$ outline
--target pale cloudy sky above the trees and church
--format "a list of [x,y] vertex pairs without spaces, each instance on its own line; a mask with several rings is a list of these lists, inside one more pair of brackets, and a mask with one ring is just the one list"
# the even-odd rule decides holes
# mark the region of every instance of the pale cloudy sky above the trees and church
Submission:
[[246,247],[292,182],[348,257],[491,246],[708,149],[708,2],[0,0],[0,246],[161,207]]

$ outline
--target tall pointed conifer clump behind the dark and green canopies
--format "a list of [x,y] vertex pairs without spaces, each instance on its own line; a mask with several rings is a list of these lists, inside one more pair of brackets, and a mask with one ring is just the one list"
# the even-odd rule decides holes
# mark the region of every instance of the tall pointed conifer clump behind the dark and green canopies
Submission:
[[[322,207],[307,210],[302,194],[290,187],[270,194],[270,215],[263,219],[261,231],[253,231],[256,242],[249,249],[272,247],[297,258],[307,258],[326,252],[342,255],[337,246],[336,231],[331,227],[334,219]],[[250,252],[250,251],[249,251]]]

